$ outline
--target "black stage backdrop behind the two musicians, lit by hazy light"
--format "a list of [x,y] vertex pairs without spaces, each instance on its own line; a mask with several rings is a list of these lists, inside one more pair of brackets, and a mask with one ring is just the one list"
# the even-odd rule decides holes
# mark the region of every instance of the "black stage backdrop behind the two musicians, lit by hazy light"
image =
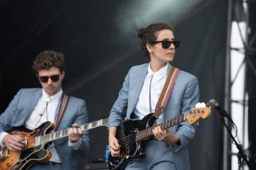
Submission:
[[[1,112],[18,89],[40,87],[32,59],[42,50],[53,49],[66,56],[65,93],[86,100],[90,122],[107,118],[129,68],[147,62],[135,30],[154,22],[173,26],[181,47],[172,65],[198,77],[200,101],[214,98],[224,105],[228,2],[195,1],[187,7],[189,3],[2,1]],[[222,169],[223,130],[214,111],[200,122],[189,145],[192,170]],[[104,159],[107,128],[90,130],[90,140],[90,157],[82,164]]]

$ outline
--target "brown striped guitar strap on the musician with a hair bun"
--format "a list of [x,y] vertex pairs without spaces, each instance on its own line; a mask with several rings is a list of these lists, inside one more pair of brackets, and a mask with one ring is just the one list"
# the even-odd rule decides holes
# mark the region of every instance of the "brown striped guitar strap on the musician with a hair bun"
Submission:
[[175,67],[172,67],[172,69],[170,69],[170,73],[164,83],[164,88],[162,89],[162,92],[158,99],[158,103],[156,103],[155,116],[157,118],[164,112],[165,106],[170,97],[170,93],[172,93],[172,88],[175,81],[177,80],[179,72],[180,70]]

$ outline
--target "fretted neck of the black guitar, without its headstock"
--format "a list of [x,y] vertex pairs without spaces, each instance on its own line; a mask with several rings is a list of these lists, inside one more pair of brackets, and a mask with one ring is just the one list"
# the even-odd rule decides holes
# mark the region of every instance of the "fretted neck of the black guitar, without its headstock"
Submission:
[[[177,118],[173,118],[171,120],[168,120],[166,122],[162,122],[161,124],[158,124],[156,126],[160,126],[162,128],[162,130],[166,129],[166,128],[170,128],[176,124],[179,124],[183,121],[186,120],[186,116],[187,116],[187,113],[186,114],[183,114],[181,116],[178,116]],[[142,140],[143,138],[148,138],[149,136],[152,136],[153,135],[153,129],[156,127],[156,126],[152,126],[150,128],[146,128],[144,130],[141,130],[139,132],[137,132],[137,135],[136,135],[136,141],[139,141],[139,140]]]

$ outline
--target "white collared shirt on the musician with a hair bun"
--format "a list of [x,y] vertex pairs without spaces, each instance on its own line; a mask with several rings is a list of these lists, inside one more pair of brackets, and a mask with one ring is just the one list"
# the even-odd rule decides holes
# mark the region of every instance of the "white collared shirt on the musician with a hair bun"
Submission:
[[[141,93],[139,94],[139,100],[137,101],[137,105],[135,106],[135,110],[133,111],[133,113],[138,116],[140,120],[146,115],[150,114],[150,95],[151,112],[155,113],[156,103],[158,102],[158,99],[162,92],[162,88],[164,87],[164,83],[167,79],[167,70],[168,64],[159,71],[156,71],[156,73],[154,73],[150,68],[150,64],[148,65],[148,74],[144,80]],[[152,81],[150,86],[151,78]],[[162,123],[162,115],[155,122],[155,124],[160,123]]]

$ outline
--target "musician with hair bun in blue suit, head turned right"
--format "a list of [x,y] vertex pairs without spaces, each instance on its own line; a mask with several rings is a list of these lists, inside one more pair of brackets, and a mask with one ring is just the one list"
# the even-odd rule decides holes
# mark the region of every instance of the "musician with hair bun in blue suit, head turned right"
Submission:
[[[173,60],[175,49],[179,46],[172,29],[162,23],[137,30],[137,36],[141,38],[141,48],[150,58],[150,63],[129,70],[119,97],[110,111],[108,140],[110,153],[114,158],[121,154],[120,148],[124,145],[117,140],[117,127],[122,124],[124,117],[128,120],[141,120],[148,114],[155,113],[156,103],[172,68],[168,62]],[[189,112],[198,101],[197,78],[180,71],[166,108],[154,125]],[[195,136],[195,126],[187,121],[167,128],[166,131],[156,126],[153,129],[155,140],[148,140],[146,143],[146,157],[132,159],[125,169],[189,170],[187,146]],[[132,136],[127,137],[127,140],[128,138],[130,140]]]

